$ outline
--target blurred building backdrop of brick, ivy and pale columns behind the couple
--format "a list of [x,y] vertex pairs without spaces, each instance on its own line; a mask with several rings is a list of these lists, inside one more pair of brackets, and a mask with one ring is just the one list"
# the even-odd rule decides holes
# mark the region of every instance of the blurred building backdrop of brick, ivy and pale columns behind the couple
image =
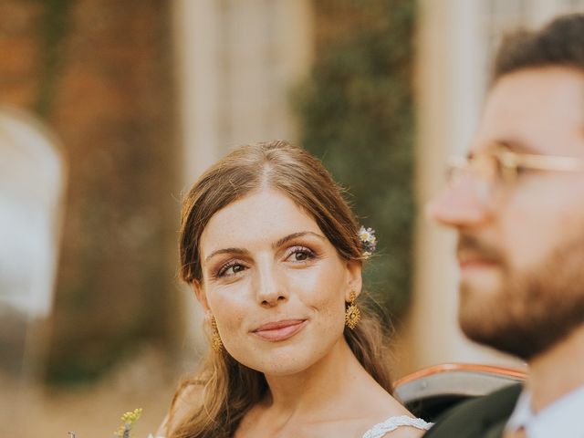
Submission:
[[205,349],[180,200],[237,144],[302,144],[377,230],[394,375],[517,364],[456,327],[423,205],[471,139],[502,35],[584,0],[0,0],[0,433],[154,432]]

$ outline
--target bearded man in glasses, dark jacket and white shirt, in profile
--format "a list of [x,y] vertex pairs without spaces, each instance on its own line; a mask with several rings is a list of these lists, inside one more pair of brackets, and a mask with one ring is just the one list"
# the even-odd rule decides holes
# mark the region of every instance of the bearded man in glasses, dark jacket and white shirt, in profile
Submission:
[[584,15],[504,41],[466,159],[428,213],[458,234],[459,322],[529,364],[427,437],[584,437]]

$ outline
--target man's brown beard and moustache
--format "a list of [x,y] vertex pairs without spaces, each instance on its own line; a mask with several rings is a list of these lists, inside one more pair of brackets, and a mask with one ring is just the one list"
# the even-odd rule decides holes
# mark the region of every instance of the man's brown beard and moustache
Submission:
[[461,284],[458,318],[464,334],[530,360],[584,323],[584,235],[576,237],[537,266],[517,271],[495,248],[461,234],[459,251],[485,256],[501,271],[497,290]]

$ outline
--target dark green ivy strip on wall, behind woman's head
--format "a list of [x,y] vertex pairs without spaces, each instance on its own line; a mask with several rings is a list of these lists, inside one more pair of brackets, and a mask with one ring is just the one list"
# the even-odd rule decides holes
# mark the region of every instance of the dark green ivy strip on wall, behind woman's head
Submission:
[[391,317],[412,286],[412,0],[315,0],[316,61],[295,93],[301,142],[377,231],[366,287]]

